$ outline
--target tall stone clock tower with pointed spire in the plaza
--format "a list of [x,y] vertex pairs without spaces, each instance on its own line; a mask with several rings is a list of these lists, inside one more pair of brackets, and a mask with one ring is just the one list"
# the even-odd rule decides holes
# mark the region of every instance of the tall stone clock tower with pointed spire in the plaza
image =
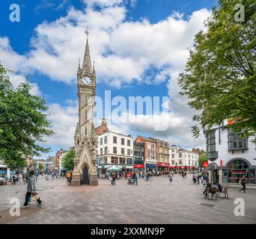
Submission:
[[79,97],[79,122],[76,125],[75,151],[76,159],[73,170],[73,186],[90,184],[97,186],[96,146],[97,135],[94,129],[94,97],[96,91],[95,69],[91,67],[88,31],[85,56],[82,68],[79,62],[77,87]]

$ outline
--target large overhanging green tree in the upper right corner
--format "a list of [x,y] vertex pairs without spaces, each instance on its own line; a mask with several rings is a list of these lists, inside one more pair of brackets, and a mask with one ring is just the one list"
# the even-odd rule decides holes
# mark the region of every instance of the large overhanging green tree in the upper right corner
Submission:
[[[243,22],[234,17],[236,4],[243,4]],[[179,77],[181,94],[199,111],[193,117],[195,137],[201,129],[221,125],[229,118],[235,119],[232,131],[255,136],[255,13],[255,0],[219,0],[205,22],[207,31],[195,35],[186,69]]]

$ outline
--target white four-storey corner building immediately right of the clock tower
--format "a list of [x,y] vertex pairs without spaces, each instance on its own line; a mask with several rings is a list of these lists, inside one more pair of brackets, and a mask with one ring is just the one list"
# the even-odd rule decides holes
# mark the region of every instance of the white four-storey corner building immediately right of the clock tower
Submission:
[[98,136],[97,170],[98,176],[106,177],[106,169],[115,165],[122,172],[133,169],[133,138],[130,135],[112,131]]

